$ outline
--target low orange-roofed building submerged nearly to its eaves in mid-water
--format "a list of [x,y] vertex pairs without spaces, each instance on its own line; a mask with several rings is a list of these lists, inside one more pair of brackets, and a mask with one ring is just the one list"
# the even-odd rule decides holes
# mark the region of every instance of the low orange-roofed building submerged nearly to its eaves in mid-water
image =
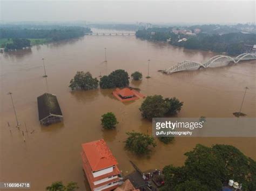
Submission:
[[124,102],[124,101],[132,101],[139,98],[145,98],[145,95],[139,93],[136,90],[130,90],[130,88],[125,87],[122,90],[117,88],[115,91],[112,92],[114,97],[116,97],[118,100]]

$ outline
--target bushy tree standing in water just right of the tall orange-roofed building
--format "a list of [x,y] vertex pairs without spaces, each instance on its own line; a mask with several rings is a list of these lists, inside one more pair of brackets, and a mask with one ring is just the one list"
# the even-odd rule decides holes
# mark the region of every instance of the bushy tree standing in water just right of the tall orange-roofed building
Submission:
[[125,141],[125,148],[137,155],[149,154],[151,147],[156,147],[156,142],[150,135],[137,132],[127,132],[126,134],[129,137]]

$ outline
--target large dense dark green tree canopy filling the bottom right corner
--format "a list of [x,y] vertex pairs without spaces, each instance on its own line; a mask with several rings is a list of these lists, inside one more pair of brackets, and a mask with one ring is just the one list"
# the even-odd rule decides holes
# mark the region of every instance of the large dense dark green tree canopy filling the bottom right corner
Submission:
[[242,183],[243,190],[256,188],[256,162],[233,146],[197,145],[185,155],[184,166],[164,167],[164,190],[220,190],[230,179]]

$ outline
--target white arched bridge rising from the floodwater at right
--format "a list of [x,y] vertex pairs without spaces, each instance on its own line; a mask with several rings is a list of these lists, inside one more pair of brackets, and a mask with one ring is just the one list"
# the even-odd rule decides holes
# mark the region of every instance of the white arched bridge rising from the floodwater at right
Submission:
[[208,59],[204,63],[185,60],[181,63],[178,63],[174,66],[169,67],[169,69],[166,69],[163,72],[167,73],[167,74],[171,74],[174,72],[180,72],[180,71],[185,71],[185,70],[198,70],[198,69],[206,68],[206,67],[225,66],[225,65],[228,65],[230,62],[236,64],[236,63],[240,62],[241,60],[255,60],[255,59],[256,59],[255,53],[242,53],[234,58],[229,57],[229,56],[224,56],[224,55],[218,55],[218,56],[214,56],[214,57]]

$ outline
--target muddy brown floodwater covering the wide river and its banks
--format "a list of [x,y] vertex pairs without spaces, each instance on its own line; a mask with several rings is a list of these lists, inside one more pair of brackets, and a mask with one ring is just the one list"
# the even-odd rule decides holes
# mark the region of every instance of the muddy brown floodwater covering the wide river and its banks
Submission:
[[[107,64],[103,63],[104,47]],[[94,77],[116,69],[124,69],[129,74],[140,71],[143,80],[131,81],[131,86],[140,88],[145,95],[175,96],[184,101],[179,117],[233,117],[232,113],[239,111],[244,87],[248,86],[242,112],[256,117],[255,61],[169,76],[157,72],[183,60],[201,62],[215,55],[148,42],[135,36],[85,36],[0,54],[0,181],[31,182],[32,190],[44,190],[53,181],[75,181],[79,190],[89,190],[84,182],[81,144],[101,138],[116,156],[124,175],[133,170],[129,160],[142,170],[169,164],[181,166],[186,159],[184,153],[196,144],[234,145],[255,160],[255,137],[176,138],[171,145],[156,140],[158,145],[150,157],[138,158],[124,150],[123,141],[127,137],[125,132],[150,134],[152,131],[151,122],[143,120],[138,109],[143,100],[124,104],[113,97],[112,90],[71,92],[68,87],[76,71],[90,71]],[[42,78],[42,58],[45,58],[48,86]],[[148,59],[151,60],[150,79],[145,78]],[[8,91],[13,92],[20,130],[15,127]],[[45,91],[57,95],[63,123],[47,127],[39,124],[37,97]],[[105,131],[100,125],[100,116],[106,112],[116,114],[119,121],[116,130]],[[22,131],[26,142],[23,142]]]

